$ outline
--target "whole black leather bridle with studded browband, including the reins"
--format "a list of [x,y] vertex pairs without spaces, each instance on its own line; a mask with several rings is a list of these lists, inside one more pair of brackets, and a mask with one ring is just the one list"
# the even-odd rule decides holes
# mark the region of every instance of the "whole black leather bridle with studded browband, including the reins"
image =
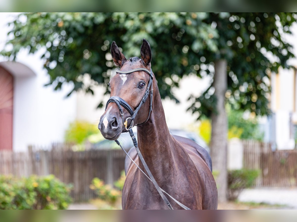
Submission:
[[[148,69],[146,68],[136,68],[136,69],[132,69],[132,70],[129,70],[129,71],[121,71],[121,70],[116,70],[116,73],[121,73],[121,74],[129,74],[129,73],[133,73],[133,72],[137,72],[137,71],[145,71],[146,73],[148,73],[150,75],[150,80],[149,80],[149,83],[148,83],[148,86],[146,88],[146,91],[140,101],[140,104],[138,105],[138,107],[135,109],[135,111],[133,112],[131,106],[122,98],[120,98],[119,96],[111,96],[107,103],[106,103],[106,106],[105,106],[105,110],[107,109],[107,106],[110,102],[114,102],[116,103],[117,107],[119,108],[119,111],[120,111],[120,114],[121,114],[121,118],[122,118],[122,121],[123,121],[123,127],[125,127],[125,129],[129,132],[130,136],[131,136],[131,139],[133,141],[133,144],[134,144],[134,147],[138,153],[138,157],[139,159],[141,160],[147,174],[149,176],[146,175],[146,173],[143,172],[143,170],[140,169],[140,167],[134,162],[134,160],[132,160],[132,158],[128,155],[128,153],[126,152],[126,150],[123,149],[123,147],[121,146],[120,142],[118,140],[115,140],[115,142],[124,150],[124,152],[126,153],[126,155],[129,157],[129,159],[137,166],[137,168],[154,184],[155,188],[157,189],[159,195],[162,197],[162,199],[164,200],[164,202],[166,203],[166,205],[168,206],[168,208],[170,210],[173,210],[173,207],[171,206],[170,202],[167,200],[167,198],[165,197],[164,193],[167,194],[172,200],[174,200],[178,205],[180,205],[181,207],[183,207],[184,209],[186,210],[190,210],[189,207],[186,207],[185,205],[183,205],[182,203],[178,202],[176,199],[174,199],[173,197],[171,197],[168,193],[166,193],[163,189],[161,189],[159,187],[159,185],[157,184],[154,176],[151,174],[151,171],[149,170],[149,167],[148,165],[146,164],[139,148],[138,148],[138,144],[137,144],[137,140],[136,140],[136,137],[134,136],[134,133],[132,131],[132,128],[133,128],[133,120],[135,119],[140,107],[142,106],[143,103],[146,102],[146,99],[148,98],[149,94],[150,94],[150,107],[149,107],[149,115],[146,119],[145,122],[143,123],[146,123],[148,120],[149,120],[149,117],[151,115],[151,111],[153,110],[153,85],[152,85],[152,82],[153,82],[153,74],[152,74],[152,70],[149,71]],[[150,91],[150,88],[151,88],[151,91]],[[131,117],[128,117],[125,121],[124,121],[124,118],[123,118],[123,115],[124,115],[124,112],[123,112],[123,109],[122,107],[123,106],[131,115]],[[130,124],[128,126],[128,120],[130,120]],[[143,123],[140,123],[140,124],[137,124],[135,126],[139,126]],[[122,132],[127,132],[125,131],[124,129],[122,130]],[[164,193],[163,193],[164,192]]]

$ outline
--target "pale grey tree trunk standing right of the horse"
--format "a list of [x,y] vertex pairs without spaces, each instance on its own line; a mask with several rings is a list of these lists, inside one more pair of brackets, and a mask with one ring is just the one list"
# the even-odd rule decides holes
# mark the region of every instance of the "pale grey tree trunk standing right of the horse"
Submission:
[[214,63],[214,95],[217,97],[217,113],[211,115],[211,158],[213,172],[217,173],[218,201],[227,201],[227,115],[225,93],[227,90],[227,61]]

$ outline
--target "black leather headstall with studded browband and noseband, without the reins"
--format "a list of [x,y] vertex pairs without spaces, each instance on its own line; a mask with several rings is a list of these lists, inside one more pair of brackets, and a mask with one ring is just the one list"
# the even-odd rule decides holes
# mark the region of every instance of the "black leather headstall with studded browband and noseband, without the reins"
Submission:
[[[143,103],[146,102],[146,99],[148,98],[149,94],[150,94],[150,88],[151,89],[151,94],[150,94],[150,108],[149,108],[149,115],[148,115],[148,118],[146,119],[145,122],[143,123],[146,123],[148,120],[149,120],[149,117],[151,115],[151,111],[153,110],[153,86],[152,86],[152,82],[153,82],[153,74],[152,74],[152,71],[149,71],[148,69],[145,69],[145,68],[137,68],[137,69],[132,69],[132,70],[129,70],[129,71],[121,71],[121,70],[116,70],[116,73],[121,73],[121,74],[128,74],[128,73],[134,73],[134,72],[137,72],[137,71],[145,71],[146,73],[148,73],[150,75],[150,79],[149,79],[149,84],[148,84],[148,87],[146,88],[146,91],[140,101],[140,104],[138,105],[138,107],[135,109],[135,111],[133,112],[132,108],[130,107],[130,105],[122,98],[120,98],[119,96],[111,96],[107,103],[106,103],[106,106],[105,106],[105,110],[107,109],[107,106],[110,102],[114,102],[116,103],[116,105],[118,106],[119,110],[120,110],[120,113],[121,113],[121,118],[122,118],[122,121],[123,121],[123,127],[125,127],[126,130],[129,130],[129,128],[132,128],[133,127],[133,120],[135,119],[137,113],[138,113],[138,110],[140,109],[140,107],[142,106]],[[123,106],[131,115],[131,117],[128,117],[125,121],[124,121],[124,118],[123,118],[123,115],[124,115],[124,112],[123,112],[123,109],[121,108],[121,106]],[[128,126],[128,120],[130,119],[130,124]],[[139,126],[143,123],[140,123],[140,124],[137,124],[135,126]]]

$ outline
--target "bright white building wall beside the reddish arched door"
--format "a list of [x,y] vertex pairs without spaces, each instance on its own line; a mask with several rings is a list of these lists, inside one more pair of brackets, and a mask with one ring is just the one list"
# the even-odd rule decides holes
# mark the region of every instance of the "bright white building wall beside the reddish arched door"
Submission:
[[[7,40],[9,28],[5,25],[11,18],[9,13],[0,13],[0,50]],[[43,69],[44,61],[40,53],[28,55],[20,52],[16,61],[28,66],[34,73],[31,77],[22,77],[22,70],[14,75],[13,102],[13,149],[26,150],[29,144],[50,145],[64,140],[64,132],[69,122],[76,117],[76,95],[65,99],[71,84],[61,91],[54,91],[53,86],[44,87],[49,76]],[[0,62],[6,61],[1,57]]]

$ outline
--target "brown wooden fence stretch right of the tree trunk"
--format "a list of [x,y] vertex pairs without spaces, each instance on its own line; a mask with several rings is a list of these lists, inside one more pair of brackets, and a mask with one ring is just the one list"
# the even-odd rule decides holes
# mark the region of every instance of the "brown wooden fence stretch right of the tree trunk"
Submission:
[[271,144],[243,141],[243,166],[259,170],[256,186],[297,186],[297,150],[271,150]]

